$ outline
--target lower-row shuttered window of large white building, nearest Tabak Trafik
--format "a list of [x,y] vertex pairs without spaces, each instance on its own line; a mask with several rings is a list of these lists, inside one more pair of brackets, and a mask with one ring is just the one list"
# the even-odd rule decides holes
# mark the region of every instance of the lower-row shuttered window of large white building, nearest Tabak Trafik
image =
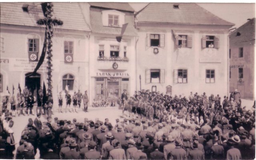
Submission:
[[146,83],[164,83],[164,69],[146,69]]

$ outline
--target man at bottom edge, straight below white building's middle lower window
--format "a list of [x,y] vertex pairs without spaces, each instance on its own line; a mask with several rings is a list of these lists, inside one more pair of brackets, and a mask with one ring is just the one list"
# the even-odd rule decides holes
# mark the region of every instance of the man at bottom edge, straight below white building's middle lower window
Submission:
[[182,148],[182,141],[180,139],[175,140],[175,148],[170,152],[170,159],[172,160],[186,160],[187,153]]

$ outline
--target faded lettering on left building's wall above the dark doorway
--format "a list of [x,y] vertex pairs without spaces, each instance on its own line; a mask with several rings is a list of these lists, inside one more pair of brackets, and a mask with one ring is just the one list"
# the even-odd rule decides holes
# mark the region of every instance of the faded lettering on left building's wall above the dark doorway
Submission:
[[[30,62],[28,58],[10,58],[9,70],[17,72],[33,72],[38,62]],[[58,72],[60,63],[53,61],[53,72]],[[39,72],[47,72],[47,61],[44,60],[42,66],[38,69]]]

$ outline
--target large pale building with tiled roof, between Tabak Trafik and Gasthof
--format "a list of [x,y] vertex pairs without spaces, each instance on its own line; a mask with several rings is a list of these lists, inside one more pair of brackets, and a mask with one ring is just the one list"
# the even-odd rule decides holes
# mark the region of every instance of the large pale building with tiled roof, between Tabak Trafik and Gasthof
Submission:
[[148,4],[136,14],[141,88],[182,96],[190,92],[228,95],[228,28],[232,25],[197,4]]

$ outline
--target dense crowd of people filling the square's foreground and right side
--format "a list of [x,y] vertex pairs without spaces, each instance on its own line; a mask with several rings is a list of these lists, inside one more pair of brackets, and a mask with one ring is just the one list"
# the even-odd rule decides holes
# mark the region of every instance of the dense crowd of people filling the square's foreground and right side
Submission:
[[204,160],[255,158],[255,101],[242,107],[237,90],[224,96],[186,97],[142,90],[122,94],[124,118],[77,122],[41,114],[28,120],[16,155],[11,112],[0,122],[0,158]]

